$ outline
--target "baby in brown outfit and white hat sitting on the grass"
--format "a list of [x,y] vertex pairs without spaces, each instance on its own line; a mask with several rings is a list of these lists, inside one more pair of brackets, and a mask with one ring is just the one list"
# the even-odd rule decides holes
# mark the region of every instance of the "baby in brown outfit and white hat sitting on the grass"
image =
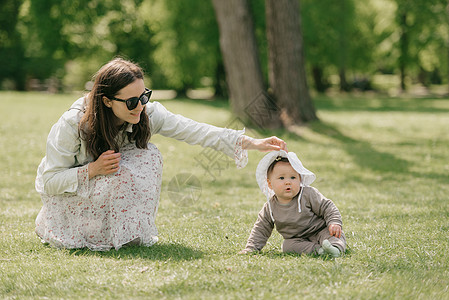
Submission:
[[284,237],[283,252],[332,257],[344,253],[340,212],[332,200],[309,186],[315,174],[303,167],[295,153],[267,154],[257,166],[256,179],[268,201],[240,254],[261,250],[274,225]]

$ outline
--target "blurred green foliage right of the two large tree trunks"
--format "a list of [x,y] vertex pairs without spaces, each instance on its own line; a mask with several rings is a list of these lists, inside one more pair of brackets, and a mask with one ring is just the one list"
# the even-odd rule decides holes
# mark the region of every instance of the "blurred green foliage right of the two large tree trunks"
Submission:
[[[343,68],[357,79],[376,72],[399,74],[402,68],[407,70],[404,78],[430,81],[433,72],[447,73],[444,0],[302,3],[306,59],[312,74],[319,70],[326,77]],[[324,80],[314,80],[316,87],[320,79]]]

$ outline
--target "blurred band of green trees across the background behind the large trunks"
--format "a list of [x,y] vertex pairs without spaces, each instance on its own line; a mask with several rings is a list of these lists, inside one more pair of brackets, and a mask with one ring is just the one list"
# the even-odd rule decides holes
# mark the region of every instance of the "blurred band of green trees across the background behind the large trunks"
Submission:
[[[267,3],[250,0],[248,10],[269,85]],[[308,88],[446,94],[447,5],[301,0]],[[204,0],[1,0],[0,89],[85,90],[99,67],[120,55],[168,96],[228,98],[217,9]]]

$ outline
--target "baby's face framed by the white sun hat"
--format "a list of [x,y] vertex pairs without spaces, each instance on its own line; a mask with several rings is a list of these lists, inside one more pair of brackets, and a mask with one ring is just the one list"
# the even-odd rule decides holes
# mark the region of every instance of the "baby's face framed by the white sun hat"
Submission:
[[287,162],[278,162],[268,175],[268,186],[281,202],[289,202],[299,193],[301,177]]

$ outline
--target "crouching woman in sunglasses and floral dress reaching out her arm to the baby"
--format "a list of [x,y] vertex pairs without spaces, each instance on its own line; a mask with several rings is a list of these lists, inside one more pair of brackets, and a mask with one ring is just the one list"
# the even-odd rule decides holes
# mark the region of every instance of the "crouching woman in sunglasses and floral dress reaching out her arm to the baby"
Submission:
[[58,248],[119,249],[157,242],[154,223],[162,156],[151,135],[211,147],[247,162],[247,149],[285,149],[277,137],[198,123],[149,103],[143,72],[117,58],[96,74],[92,90],[52,127],[36,178],[43,207],[36,233]]

